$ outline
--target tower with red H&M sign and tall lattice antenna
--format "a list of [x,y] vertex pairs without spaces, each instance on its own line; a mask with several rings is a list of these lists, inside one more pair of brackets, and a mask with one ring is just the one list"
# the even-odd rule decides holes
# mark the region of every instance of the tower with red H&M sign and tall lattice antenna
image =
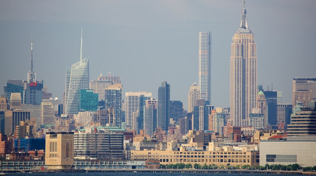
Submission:
[[27,73],[27,80],[23,80],[23,104],[40,105],[43,97],[43,80],[36,80],[33,72],[33,37],[31,42],[31,69]]

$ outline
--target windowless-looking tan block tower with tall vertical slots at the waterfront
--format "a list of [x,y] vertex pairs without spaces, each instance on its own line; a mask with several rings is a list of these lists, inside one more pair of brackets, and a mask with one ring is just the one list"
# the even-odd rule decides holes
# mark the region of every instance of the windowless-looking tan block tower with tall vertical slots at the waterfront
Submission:
[[46,132],[45,165],[70,169],[74,164],[74,132]]

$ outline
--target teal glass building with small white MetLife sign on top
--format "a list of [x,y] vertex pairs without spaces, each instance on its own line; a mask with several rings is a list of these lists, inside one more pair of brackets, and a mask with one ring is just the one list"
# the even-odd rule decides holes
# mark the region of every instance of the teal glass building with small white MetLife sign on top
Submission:
[[96,111],[98,109],[98,94],[92,89],[80,89],[78,111]]

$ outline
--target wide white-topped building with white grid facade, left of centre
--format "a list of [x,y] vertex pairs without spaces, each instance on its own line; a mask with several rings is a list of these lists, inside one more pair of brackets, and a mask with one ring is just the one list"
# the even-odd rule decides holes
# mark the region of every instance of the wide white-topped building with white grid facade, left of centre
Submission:
[[[141,106],[145,105],[145,100],[152,97],[151,92],[141,91],[141,92],[126,92],[125,93],[125,122],[131,130],[138,131],[138,121],[137,119]],[[143,128],[143,127],[142,127]],[[141,129],[142,129],[141,128]]]

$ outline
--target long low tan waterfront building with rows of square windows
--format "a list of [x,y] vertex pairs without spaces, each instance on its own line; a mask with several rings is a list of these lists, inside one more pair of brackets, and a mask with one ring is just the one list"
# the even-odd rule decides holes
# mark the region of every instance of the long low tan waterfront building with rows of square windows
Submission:
[[172,150],[144,150],[131,151],[131,160],[159,160],[160,164],[197,163],[200,165],[250,165],[259,166],[258,146],[225,146],[218,147],[216,151],[186,151],[179,148]]

